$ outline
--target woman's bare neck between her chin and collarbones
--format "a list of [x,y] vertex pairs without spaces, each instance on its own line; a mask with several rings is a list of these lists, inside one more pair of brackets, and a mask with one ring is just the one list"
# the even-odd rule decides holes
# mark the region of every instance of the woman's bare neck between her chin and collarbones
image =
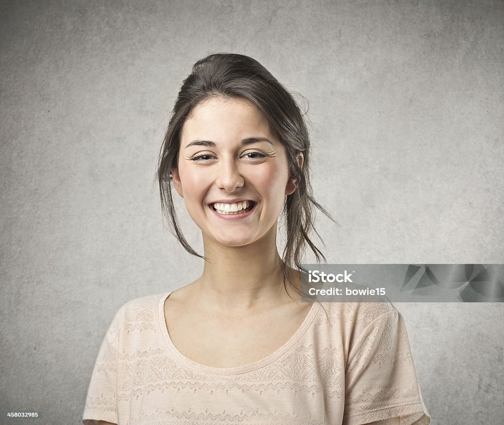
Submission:
[[272,233],[243,247],[227,247],[204,238],[208,261],[195,282],[199,296],[228,312],[285,302],[283,262],[276,248],[276,232]]

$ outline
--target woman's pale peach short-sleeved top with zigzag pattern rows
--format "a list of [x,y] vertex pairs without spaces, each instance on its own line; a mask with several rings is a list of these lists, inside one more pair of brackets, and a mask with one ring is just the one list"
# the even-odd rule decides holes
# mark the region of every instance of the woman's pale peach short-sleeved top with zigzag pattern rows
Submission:
[[[401,314],[388,302],[313,303],[290,340],[236,368],[171,342],[169,293],[126,303],[101,345],[83,419],[119,425],[430,422]],[[232,349],[232,347],[229,347]]]

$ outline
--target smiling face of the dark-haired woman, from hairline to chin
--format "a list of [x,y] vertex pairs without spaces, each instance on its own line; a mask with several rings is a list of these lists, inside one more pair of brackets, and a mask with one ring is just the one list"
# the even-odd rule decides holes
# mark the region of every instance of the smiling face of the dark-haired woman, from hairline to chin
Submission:
[[274,237],[285,196],[295,190],[284,146],[241,98],[211,98],[194,109],[172,175],[204,239],[233,247]]

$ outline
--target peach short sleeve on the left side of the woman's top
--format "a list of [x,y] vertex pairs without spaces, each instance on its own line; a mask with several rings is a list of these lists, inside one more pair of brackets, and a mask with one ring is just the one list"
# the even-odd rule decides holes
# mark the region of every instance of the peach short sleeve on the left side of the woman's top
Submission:
[[101,343],[91,375],[83,421],[95,419],[117,423],[117,352],[123,316],[123,309],[120,309]]

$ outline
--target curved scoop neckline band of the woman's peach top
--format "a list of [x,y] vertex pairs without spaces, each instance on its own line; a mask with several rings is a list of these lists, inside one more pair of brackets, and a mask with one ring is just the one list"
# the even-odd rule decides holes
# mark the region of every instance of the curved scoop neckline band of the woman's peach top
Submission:
[[268,363],[271,363],[278,357],[282,356],[285,352],[287,352],[306,332],[308,327],[310,326],[311,322],[313,321],[316,313],[317,313],[317,307],[316,305],[318,304],[317,302],[313,302],[310,310],[308,311],[308,314],[302,321],[301,325],[299,328],[294,332],[294,334],[287,340],[285,344],[283,344],[281,347],[277,348],[275,351],[273,351],[271,354],[267,355],[266,357],[255,361],[254,363],[248,363],[248,365],[243,365],[243,366],[234,366],[230,368],[216,368],[214,366],[209,366],[209,365],[204,365],[203,363],[199,363],[195,360],[190,359],[189,357],[185,356],[182,354],[177,347],[175,347],[175,344],[173,344],[170,335],[168,333],[168,327],[166,326],[166,321],[164,318],[164,303],[168,296],[170,296],[171,292],[167,292],[161,295],[158,301],[158,324],[159,328],[161,330],[161,335],[163,336],[163,339],[165,341],[165,344],[168,348],[168,350],[179,360],[184,366],[191,367],[193,369],[196,369],[200,372],[205,372],[213,375],[234,375],[234,374],[239,374],[243,372],[249,372],[254,369],[259,369],[262,368]]

